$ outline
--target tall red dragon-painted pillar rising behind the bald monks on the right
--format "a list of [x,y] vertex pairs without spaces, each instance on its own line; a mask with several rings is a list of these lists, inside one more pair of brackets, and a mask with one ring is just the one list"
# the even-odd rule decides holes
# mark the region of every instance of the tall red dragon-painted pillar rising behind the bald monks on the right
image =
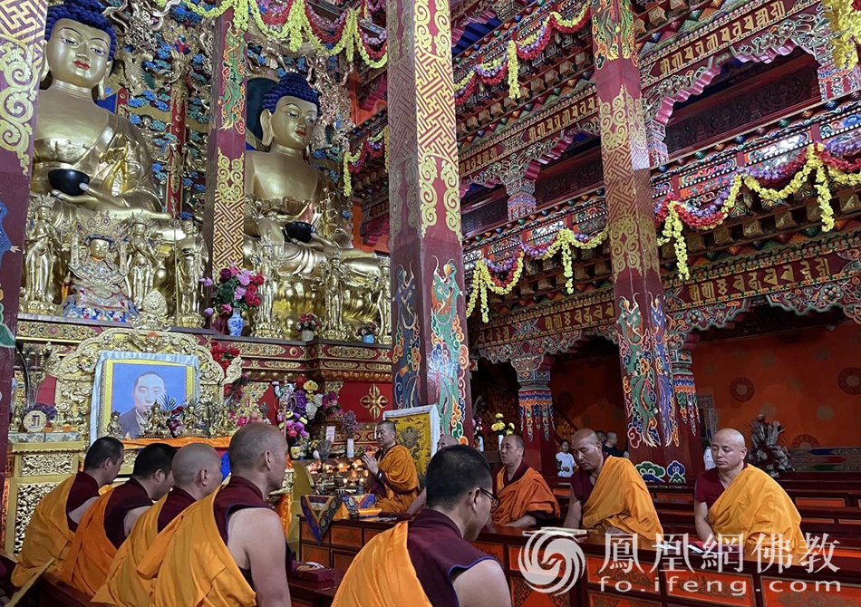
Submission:
[[692,480],[690,438],[679,428],[665,342],[634,14],[626,0],[593,0],[592,15],[628,448],[634,462]]

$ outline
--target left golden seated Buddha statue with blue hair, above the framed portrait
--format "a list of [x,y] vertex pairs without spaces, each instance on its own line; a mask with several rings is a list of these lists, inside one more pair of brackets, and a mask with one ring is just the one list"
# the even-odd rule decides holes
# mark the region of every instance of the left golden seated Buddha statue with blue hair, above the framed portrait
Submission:
[[[140,130],[94,101],[104,91],[117,41],[98,0],[65,0],[51,6],[45,26],[43,87],[36,113],[33,196],[59,198],[53,225],[66,232],[95,213],[156,221],[171,239],[152,182],[152,161]],[[89,177],[82,194],[52,191],[52,169],[75,169]]]

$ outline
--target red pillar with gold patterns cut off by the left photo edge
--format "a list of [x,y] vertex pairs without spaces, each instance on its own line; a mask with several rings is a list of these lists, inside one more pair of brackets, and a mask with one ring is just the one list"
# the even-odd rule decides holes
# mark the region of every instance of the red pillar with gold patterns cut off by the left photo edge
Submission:
[[0,484],[5,481],[18,292],[47,9],[47,0],[0,0],[0,56],[5,63],[0,70],[4,100],[0,103]]

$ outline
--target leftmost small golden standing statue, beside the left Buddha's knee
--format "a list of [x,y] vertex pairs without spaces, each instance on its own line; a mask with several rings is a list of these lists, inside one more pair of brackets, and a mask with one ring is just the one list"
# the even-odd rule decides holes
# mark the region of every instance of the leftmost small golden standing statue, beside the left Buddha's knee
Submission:
[[60,255],[60,235],[51,223],[55,198],[39,196],[27,213],[24,246],[24,310],[29,313],[54,313],[53,265]]

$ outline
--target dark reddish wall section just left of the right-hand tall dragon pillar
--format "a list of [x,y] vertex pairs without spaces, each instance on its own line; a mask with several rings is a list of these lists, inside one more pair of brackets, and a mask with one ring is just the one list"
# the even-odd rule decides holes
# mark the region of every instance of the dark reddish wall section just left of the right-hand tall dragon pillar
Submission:
[[577,428],[614,431],[624,443],[624,396],[616,356],[558,361],[550,369],[554,407]]

